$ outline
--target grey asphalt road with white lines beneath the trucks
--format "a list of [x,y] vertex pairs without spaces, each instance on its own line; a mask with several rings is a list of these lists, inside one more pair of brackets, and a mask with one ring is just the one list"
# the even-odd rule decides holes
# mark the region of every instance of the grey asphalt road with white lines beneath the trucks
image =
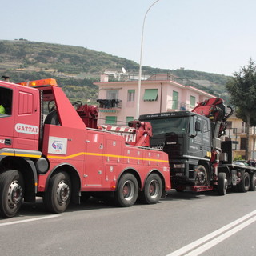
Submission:
[[[249,215],[248,215],[249,214]],[[0,255],[256,255],[256,192],[177,193],[156,205],[90,199],[62,214],[42,200],[0,218]]]

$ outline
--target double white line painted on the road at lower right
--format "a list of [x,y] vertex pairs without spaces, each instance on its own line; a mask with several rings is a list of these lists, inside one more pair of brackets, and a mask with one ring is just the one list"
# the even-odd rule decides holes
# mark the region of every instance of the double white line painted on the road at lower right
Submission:
[[[211,238],[214,238],[214,237],[218,236],[219,234],[226,232],[226,233],[218,236],[218,238],[214,238],[214,240],[207,242],[206,244],[198,247],[197,249],[193,250],[189,254],[186,254],[186,256],[191,256],[191,255],[196,256],[196,255],[202,254],[204,251],[217,245],[219,242],[222,242],[224,239],[229,238],[232,234],[235,234],[239,230],[242,230],[246,226],[250,225],[250,223],[255,222],[256,221],[256,216],[254,216],[255,214],[256,214],[256,210],[252,211],[250,214],[244,215],[242,218],[238,218],[234,222],[231,222],[230,224],[223,226],[222,228],[215,230],[214,232],[212,232],[210,234],[207,234],[203,238],[200,238],[194,242],[191,242],[189,245],[186,245],[186,246],[182,247],[181,249],[175,250],[171,254],[167,254],[166,256],[181,256],[183,254],[186,254],[190,250],[193,250],[194,248],[202,245],[202,243],[207,242]],[[252,216],[254,216],[254,218],[251,218],[246,221],[247,218],[250,218]],[[246,221],[246,222],[244,222],[244,221]],[[241,222],[243,222],[243,223],[240,224],[239,226],[237,226]],[[236,226],[236,227],[234,227],[234,226]],[[234,227],[234,228],[232,230],[230,230],[232,227]],[[227,231],[227,230],[229,230],[229,231]]]

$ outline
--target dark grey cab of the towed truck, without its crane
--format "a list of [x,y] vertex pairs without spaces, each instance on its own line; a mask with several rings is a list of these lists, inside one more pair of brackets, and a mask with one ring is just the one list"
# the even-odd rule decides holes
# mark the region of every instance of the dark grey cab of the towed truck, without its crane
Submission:
[[[180,186],[208,186],[213,140],[209,118],[190,112],[144,114],[139,120],[151,122],[153,137],[150,146],[169,155],[173,188]],[[199,168],[198,168],[199,167]],[[212,175],[211,175],[212,176]]]

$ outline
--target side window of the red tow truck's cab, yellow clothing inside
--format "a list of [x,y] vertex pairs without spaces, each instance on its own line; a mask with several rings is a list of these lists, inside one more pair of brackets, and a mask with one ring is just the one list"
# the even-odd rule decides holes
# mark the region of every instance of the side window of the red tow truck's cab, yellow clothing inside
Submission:
[[12,90],[4,87],[0,88],[0,118],[11,115],[12,96]]

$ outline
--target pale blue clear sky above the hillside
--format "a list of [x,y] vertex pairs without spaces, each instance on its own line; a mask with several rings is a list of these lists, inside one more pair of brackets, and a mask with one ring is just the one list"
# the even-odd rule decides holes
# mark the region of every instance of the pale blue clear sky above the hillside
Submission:
[[[0,39],[83,46],[139,62],[153,2],[9,0]],[[159,0],[146,16],[142,66],[232,75],[256,61],[255,10],[255,0]]]

